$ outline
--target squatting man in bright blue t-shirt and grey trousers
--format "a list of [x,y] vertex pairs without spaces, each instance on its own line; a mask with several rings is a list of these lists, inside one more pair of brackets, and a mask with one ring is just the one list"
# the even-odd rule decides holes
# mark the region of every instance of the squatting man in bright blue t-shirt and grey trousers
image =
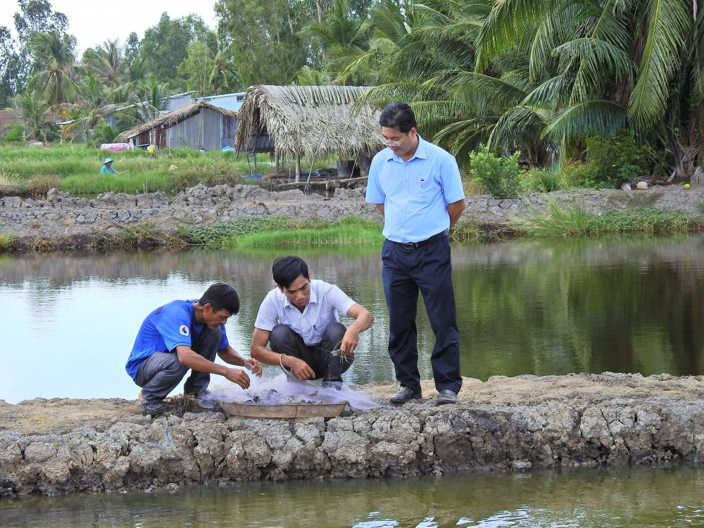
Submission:
[[227,341],[225,323],[238,312],[237,291],[218,282],[198,300],[172,301],[147,315],[125,365],[127,374],[142,387],[139,399],[146,413],[153,416],[166,410],[163,399],[189,369],[192,372],[184,393],[199,396],[203,408],[215,408],[214,403],[202,398],[208,394],[210,374],[224,376],[243,389],[249,387],[244,370],[214,363],[216,353],[225,363],[261,375],[259,362],[243,358]]

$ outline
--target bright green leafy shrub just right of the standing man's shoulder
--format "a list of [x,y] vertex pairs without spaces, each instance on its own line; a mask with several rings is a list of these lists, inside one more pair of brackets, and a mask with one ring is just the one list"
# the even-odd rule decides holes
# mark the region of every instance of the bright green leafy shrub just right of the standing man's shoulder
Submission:
[[470,174],[494,198],[513,198],[518,195],[520,184],[520,155],[515,152],[509,158],[497,158],[486,145],[480,145],[478,151],[470,154]]

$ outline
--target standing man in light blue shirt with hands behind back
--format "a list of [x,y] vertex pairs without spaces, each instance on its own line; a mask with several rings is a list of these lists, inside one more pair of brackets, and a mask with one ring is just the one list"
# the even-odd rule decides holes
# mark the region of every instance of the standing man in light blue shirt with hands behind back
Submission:
[[408,104],[386,106],[379,125],[386,149],[372,160],[366,200],[384,215],[389,356],[401,384],[390,401],[401,405],[422,397],[415,325],[420,290],[435,334],[436,403],[456,403],[462,377],[448,231],[465,210],[460,170],[454,156],[420,137]]

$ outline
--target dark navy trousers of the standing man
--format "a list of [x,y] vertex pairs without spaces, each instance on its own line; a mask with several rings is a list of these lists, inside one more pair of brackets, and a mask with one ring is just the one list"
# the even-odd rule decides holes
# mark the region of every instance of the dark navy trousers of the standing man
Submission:
[[420,391],[415,325],[419,290],[435,334],[430,358],[435,387],[438,391],[458,392],[462,386],[460,334],[451,275],[448,237],[415,249],[384,241],[382,279],[389,310],[389,356],[398,382],[416,391]]

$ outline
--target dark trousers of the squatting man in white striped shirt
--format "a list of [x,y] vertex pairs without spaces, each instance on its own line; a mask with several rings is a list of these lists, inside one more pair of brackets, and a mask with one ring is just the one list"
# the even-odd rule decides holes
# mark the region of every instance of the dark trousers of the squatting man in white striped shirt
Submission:
[[302,359],[315,372],[315,379],[341,382],[341,375],[352,365],[353,356],[337,356],[331,352],[342,341],[347,329],[341,322],[331,322],[317,345],[308,346],[289,325],[276,325],[269,334],[269,346],[279,354]]

